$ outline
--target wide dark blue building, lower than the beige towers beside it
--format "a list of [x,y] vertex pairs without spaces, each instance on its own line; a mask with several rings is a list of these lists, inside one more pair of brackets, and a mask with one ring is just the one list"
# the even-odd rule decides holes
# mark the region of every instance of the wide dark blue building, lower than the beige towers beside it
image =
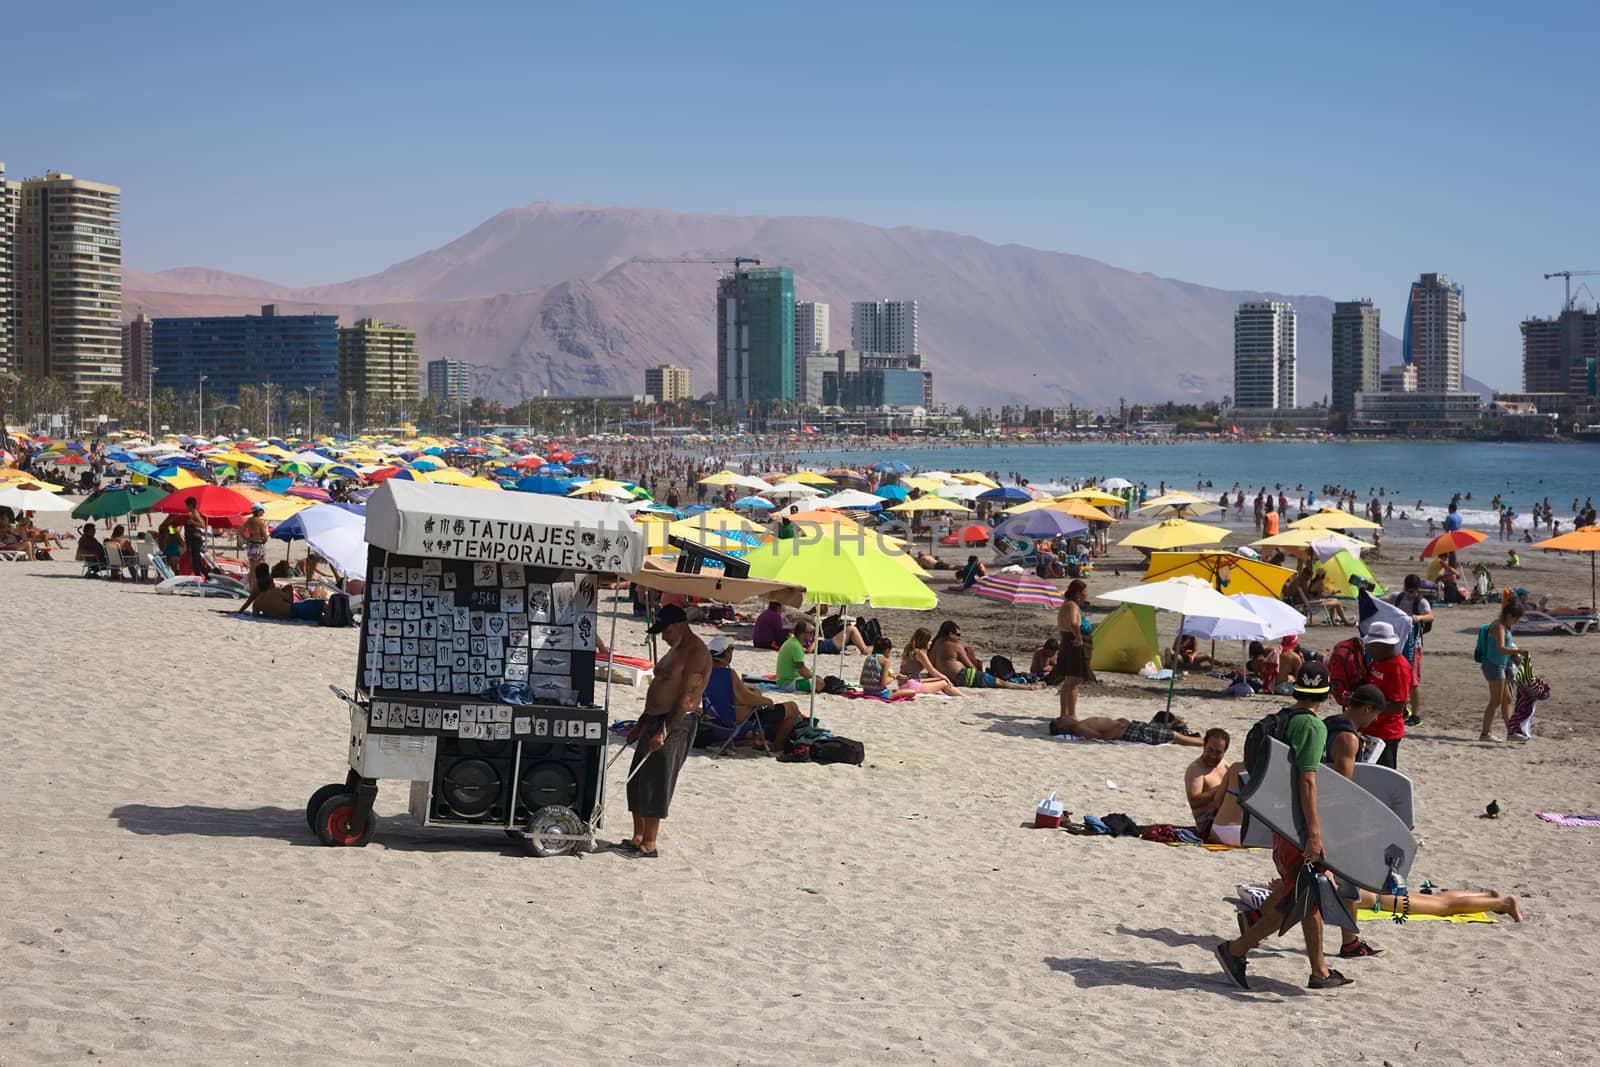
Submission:
[[264,304],[259,315],[157,318],[150,358],[155,389],[203,390],[208,408],[237,402],[240,386],[274,386],[278,402],[307,394],[320,403],[318,426],[339,406],[338,315],[280,315]]

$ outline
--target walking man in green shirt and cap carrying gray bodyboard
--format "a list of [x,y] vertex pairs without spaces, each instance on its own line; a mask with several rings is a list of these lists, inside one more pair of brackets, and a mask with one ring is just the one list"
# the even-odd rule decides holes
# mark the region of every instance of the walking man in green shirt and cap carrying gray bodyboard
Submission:
[[[1250,929],[1234,941],[1222,941],[1216,945],[1216,958],[1229,981],[1240,989],[1250,989],[1245,974],[1245,957],[1283,923],[1283,909],[1294,883],[1306,864],[1315,864],[1322,853],[1322,822],[1317,817],[1317,768],[1322,765],[1323,752],[1328,747],[1328,728],[1317,715],[1317,709],[1328,699],[1328,669],[1320,662],[1307,662],[1294,677],[1294,704],[1283,709],[1286,723],[1278,737],[1290,747],[1290,758],[1294,765],[1294,795],[1299,801],[1299,814],[1306,825],[1306,845],[1296,848],[1293,841],[1272,835],[1272,862],[1278,869],[1282,886],[1261,909],[1261,918],[1251,923]],[[1312,909],[1301,920],[1301,931],[1306,934],[1306,958],[1310,960],[1310,989],[1338,989],[1350,985],[1349,979],[1328,968],[1328,960],[1322,949],[1322,913]]]

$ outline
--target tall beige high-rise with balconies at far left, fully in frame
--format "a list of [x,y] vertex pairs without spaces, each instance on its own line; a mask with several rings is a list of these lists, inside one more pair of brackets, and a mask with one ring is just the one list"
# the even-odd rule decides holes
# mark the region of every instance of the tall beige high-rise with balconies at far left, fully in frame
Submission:
[[122,384],[122,190],[46,173],[21,182],[16,350],[74,400]]

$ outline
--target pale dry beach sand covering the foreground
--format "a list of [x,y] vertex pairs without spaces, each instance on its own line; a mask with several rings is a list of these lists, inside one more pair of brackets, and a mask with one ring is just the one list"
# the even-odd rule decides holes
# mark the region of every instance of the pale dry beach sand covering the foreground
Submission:
[[[1389,552],[1386,581],[1405,568]],[[1522,584],[1587,595],[1587,561],[1528,563]],[[1582,1005],[1600,969],[1600,830],[1531,813],[1600,809],[1600,637],[1526,638],[1555,688],[1526,747],[1475,741],[1470,648],[1488,613],[1442,611],[1429,638],[1427,720],[1400,757],[1424,841],[1413,881],[1515,893],[1528,921],[1371,925],[1389,953],[1341,965],[1357,985],[1323,993],[1304,989],[1291,934],[1253,957],[1246,993],[1211,945],[1234,931],[1234,885],[1270,877],[1267,853],[1024,829],[1053,789],[1075,814],[1187,821],[1190,750],[1050,741],[1053,691],[821,697],[866,766],[694,755],[654,862],[538,861],[498,835],[424,832],[394,784],[373,845],[328,849],[302,806],[344,774],[347,715],[326,685],[352,681],[355,632],[77,573],[0,566],[5,1064],[1597,1056]],[[1130,581],[1102,568],[1091,589]],[[942,597],[941,613],[981,653],[1005,651],[1005,609]],[[898,641],[942,617],[878,614]],[[1050,629],[1029,614],[1024,640]],[[638,648],[637,624],[621,633]],[[1314,627],[1307,643],[1342,635]],[[1219,688],[1187,678],[1178,710],[1238,739],[1278,702]],[[638,699],[616,689],[614,717]],[[1160,699],[1110,677],[1083,707],[1146,718]],[[1478,819],[1491,798],[1504,814]]]

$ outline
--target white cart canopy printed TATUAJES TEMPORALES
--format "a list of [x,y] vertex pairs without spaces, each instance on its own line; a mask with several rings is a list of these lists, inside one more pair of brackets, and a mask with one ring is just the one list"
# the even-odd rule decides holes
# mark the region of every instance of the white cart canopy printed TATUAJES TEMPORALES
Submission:
[[402,555],[632,574],[645,534],[619,504],[389,478],[366,501],[366,542]]

